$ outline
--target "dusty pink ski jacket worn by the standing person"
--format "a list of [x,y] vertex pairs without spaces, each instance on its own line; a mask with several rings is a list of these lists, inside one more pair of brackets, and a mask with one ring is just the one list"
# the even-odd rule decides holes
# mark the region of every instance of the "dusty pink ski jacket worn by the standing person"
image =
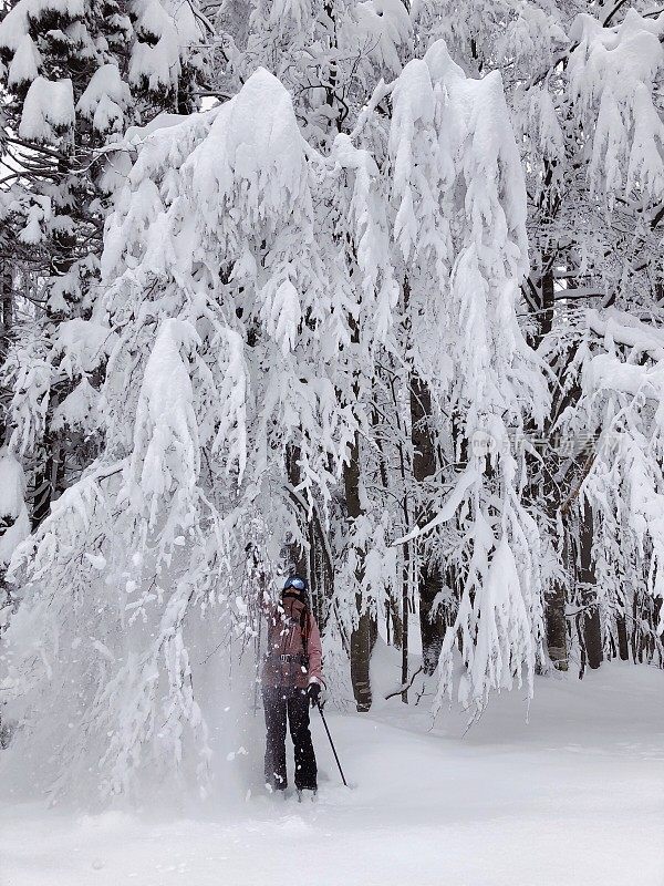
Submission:
[[[262,671],[263,686],[298,687],[323,682],[323,649],[315,618],[302,600],[286,597],[268,611],[268,649]],[[309,668],[304,656],[309,657]]]

